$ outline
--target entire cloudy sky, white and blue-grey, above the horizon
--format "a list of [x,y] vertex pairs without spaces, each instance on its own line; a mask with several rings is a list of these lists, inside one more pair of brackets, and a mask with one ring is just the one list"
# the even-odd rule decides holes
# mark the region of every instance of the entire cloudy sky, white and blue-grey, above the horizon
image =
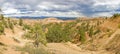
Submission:
[[120,0],[0,0],[6,16],[111,16]]

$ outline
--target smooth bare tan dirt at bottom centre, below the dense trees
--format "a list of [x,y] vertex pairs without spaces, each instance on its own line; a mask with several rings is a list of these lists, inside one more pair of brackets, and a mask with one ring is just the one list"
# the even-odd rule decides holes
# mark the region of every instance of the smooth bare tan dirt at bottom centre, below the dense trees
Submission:
[[48,43],[48,50],[54,54],[97,54],[94,51],[81,50],[71,43]]

